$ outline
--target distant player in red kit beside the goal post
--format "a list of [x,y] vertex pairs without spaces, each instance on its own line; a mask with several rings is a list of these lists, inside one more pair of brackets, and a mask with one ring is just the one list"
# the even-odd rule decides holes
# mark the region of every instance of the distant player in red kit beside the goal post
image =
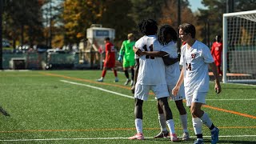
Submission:
[[222,75],[222,42],[221,42],[222,37],[220,35],[217,35],[215,40],[216,42],[213,43],[213,46],[211,46],[210,54],[214,58],[214,63],[217,66],[218,74]]

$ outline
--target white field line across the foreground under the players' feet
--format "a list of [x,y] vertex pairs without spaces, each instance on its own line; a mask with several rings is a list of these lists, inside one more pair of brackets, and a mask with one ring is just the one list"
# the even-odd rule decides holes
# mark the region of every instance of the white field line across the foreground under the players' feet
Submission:
[[[210,138],[210,136],[204,136]],[[256,135],[220,135],[219,138],[256,137]],[[153,137],[145,137],[153,139]],[[195,136],[191,136],[195,138]],[[64,141],[64,140],[107,140],[107,139],[128,139],[128,138],[45,138],[45,139],[0,139],[0,142],[29,142],[29,141]]]

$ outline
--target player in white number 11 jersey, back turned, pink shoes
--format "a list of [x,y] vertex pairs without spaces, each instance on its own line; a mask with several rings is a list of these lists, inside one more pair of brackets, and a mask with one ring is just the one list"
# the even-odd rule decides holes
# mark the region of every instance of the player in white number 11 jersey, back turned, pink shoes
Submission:
[[[161,50],[162,46],[157,41],[156,36],[158,31],[157,22],[153,19],[143,19],[142,22],[138,23],[138,28],[144,36],[135,42],[135,47],[143,51]],[[142,133],[142,104],[143,101],[147,100],[149,92],[152,90],[156,95],[156,98],[158,98],[159,105],[162,107],[166,116],[166,124],[170,128],[171,141],[178,141],[174,130],[173,115],[167,99],[169,93],[166,85],[165,66],[162,58],[154,58],[148,55],[139,57],[138,55],[135,55],[135,60],[134,115],[137,134],[129,139],[144,139]]]

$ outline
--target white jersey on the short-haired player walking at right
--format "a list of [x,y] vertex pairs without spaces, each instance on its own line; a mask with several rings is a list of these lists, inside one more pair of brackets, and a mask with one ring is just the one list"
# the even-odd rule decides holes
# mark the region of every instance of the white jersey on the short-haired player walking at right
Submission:
[[182,46],[180,64],[184,68],[184,86],[186,94],[207,92],[209,90],[208,64],[214,62],[208,46],[195,41],[188,49],[187,44]]

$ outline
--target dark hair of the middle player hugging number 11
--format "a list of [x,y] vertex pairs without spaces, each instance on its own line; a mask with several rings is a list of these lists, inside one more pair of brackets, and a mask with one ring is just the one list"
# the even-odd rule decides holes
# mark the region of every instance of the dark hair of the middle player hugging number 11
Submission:
[[168,43],[166,39],[168,34],[170,34],[171,41],[178,41],[178,34],[174,30],[174,28],[170,25],[164,25],[160,27],[158,33],[158,41],[160,42],[161,45],[166,45]]

